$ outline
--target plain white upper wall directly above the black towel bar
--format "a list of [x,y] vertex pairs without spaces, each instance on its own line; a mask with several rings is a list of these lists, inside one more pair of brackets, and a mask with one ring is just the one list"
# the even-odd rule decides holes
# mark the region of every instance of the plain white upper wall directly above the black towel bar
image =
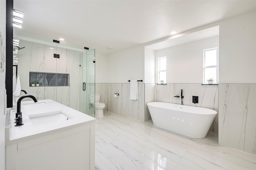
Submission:
[[108,83],[128,83],[128,80],[143,79],[144,45],[108,56]]

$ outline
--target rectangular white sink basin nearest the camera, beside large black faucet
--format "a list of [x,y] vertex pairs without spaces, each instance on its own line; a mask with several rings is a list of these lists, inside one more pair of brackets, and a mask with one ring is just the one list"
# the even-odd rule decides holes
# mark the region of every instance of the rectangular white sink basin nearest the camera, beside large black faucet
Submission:
[[40,113],[34,115],[28,115],[32,125],[45,125],[50,123],[57,123],[60,121],[68,121],[72,119],[67,113],[63,111],[53,111],[48,113]]

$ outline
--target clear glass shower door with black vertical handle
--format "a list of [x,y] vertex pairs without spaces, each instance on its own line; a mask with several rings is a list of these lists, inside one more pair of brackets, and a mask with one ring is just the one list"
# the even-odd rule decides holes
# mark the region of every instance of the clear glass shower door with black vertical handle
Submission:
[[95,99],[90,99],[91,94],[95,94],[95,49],[80,55],[80,111],[95,117]]

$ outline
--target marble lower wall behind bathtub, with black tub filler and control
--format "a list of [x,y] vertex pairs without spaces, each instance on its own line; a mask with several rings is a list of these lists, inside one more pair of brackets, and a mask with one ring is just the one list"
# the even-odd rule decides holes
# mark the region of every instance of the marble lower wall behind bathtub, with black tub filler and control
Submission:
[[[184,105],[205,107],[218,112],[218,85],[156,84],[155,101],[181,104],[181,98],[174,97],[180,96],[181,89],[183,90]],[[192,103],[192,96],[198,96],[198,104]],[[209,131],[218,133],[218,114]]]

